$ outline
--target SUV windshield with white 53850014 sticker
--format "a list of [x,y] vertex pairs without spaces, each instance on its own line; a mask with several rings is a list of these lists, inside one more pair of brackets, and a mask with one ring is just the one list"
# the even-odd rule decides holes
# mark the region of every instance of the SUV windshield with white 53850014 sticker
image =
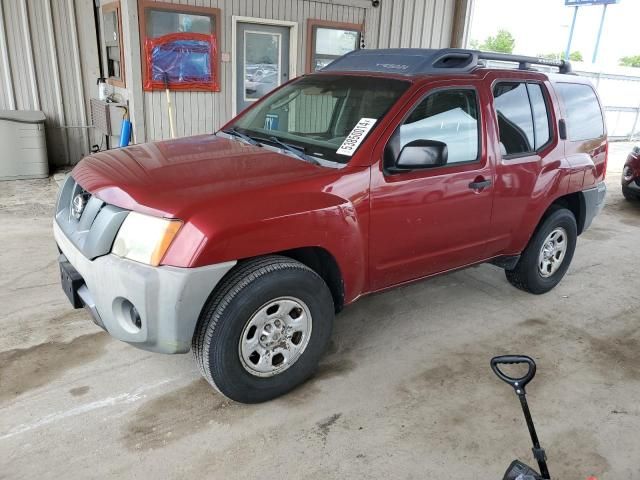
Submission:
[[304,154],[347,163],[409,87],[389,78],[312,75],[283,87],[230,126],[262,142],[274,138]]

